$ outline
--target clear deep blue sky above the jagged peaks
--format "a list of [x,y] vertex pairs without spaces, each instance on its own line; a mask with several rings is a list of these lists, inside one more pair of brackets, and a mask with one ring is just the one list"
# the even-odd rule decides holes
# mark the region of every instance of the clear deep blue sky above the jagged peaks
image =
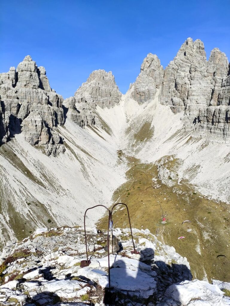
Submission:
[[187,37],[230,59],[229,16],[229,0],[0,0],[0,73],[29,54],[64,98],[95,69],[125,93],[149,52],[165,68]]

